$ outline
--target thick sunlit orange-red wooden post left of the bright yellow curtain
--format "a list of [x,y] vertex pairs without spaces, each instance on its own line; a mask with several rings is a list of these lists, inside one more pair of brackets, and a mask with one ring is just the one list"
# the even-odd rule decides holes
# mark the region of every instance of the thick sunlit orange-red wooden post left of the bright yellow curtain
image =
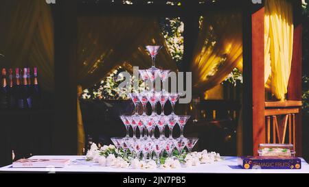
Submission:
[[243,9],[244,155],[257,155],[265,142],[264,5],[247,1]]

